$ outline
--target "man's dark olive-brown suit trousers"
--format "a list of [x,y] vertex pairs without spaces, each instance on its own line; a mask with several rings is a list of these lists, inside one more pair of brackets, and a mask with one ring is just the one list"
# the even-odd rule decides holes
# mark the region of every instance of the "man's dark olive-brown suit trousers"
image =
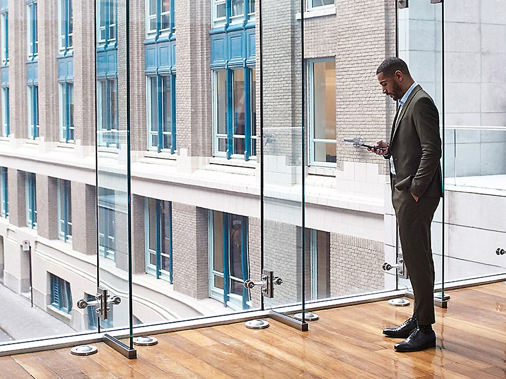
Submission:
[[440,198],[422,196],[416,202],[409,189],[399,191],[392,187],[392,204],[399,225],[404,264],[413,286],[416,319],[419,325],[431,325],[436,322],[431,222]]

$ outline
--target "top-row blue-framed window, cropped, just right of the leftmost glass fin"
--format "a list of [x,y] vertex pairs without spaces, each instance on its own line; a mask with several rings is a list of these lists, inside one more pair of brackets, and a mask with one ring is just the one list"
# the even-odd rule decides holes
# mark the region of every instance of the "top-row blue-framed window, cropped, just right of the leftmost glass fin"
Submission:
[[175,0],[146,0],[146,33],[174,33]]

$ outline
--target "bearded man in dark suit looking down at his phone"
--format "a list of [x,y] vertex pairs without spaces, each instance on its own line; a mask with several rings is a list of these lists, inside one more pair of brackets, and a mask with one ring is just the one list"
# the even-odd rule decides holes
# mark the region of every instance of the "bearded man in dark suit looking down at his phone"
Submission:
[[377,141],[375,146],[384,150],[370,150],[390,160],[392,204],[414,293],[413,315],[383,334],[405,339],[394,346],[396,351],[418,351],[436,346],[431,222],[443,196],[439,113],[401,59],[386,59],[376,75],[383,93],[399,105],[390,143]]

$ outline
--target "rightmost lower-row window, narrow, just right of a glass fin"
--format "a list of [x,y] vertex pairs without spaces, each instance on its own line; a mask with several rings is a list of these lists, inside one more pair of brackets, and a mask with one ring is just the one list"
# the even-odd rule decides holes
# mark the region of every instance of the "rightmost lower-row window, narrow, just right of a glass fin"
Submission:
[[330,297],[330,233],[311,230],[311,300]]

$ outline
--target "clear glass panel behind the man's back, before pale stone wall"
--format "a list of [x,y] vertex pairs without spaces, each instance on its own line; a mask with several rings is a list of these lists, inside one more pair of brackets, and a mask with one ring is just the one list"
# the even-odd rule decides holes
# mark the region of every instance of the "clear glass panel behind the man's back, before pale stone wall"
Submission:
[[445,2],[445,280],[504,274],[506,3]]

